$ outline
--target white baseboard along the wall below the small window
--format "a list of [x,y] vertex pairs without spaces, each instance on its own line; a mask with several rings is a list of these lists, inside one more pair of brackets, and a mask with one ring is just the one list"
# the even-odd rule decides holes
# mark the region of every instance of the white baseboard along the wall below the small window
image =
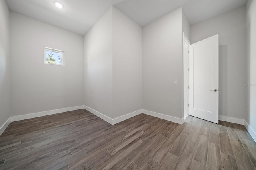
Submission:
[[83,109],[83,108],[84,108],[84,106],[82,105],[82,106],[67,107],[67,108],[63,108],[63,109],[42,111],[42,112],[30,113],[30,114],[26,114],[26,115],[13,116],[13,117],[11,117],[11,120],[12,121],[20,121],[20,120],[31,119],[31,118],[41,117],[41,116],[46,116],[46,115],[53,115],[53,114],[57,114],[57,113],[73,111],[73,110],[78,110],[78,109]]

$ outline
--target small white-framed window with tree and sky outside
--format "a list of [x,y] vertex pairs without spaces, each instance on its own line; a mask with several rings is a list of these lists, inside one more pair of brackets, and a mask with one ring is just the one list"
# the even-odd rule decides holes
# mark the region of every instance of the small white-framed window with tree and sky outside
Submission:
[[64,51],[44,47],[44,64],[64,66]]

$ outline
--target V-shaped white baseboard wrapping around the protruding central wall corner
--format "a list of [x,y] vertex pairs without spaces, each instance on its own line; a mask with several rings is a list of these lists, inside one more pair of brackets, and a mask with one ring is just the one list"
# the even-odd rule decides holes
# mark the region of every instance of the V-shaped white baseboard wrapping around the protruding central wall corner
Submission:
[[88,106],[84,106],[84,109],[90,111],[91,113],[93,113],[94,115],[100,117],[101,119],[103,119],[104,121],[110,123],[111,125],[114,125],[114,124],[119,123],[121,121],[124,121],[126,119],[130,119],[131,117],[134,117],[134,116],[139,115],[139,114],[142,113],[142,109],[140,109],[140,110],[134,111],[132,113],[128,113],[126,115],[123,115],[123,116],[116,117],[116,118],[112,119],[112,118],[110,118],[110,117],[108,117],[108,116],[106,116],[106,115],[104,115],[104,114],[102,114],[102,113],[100,113],[100,112],[98,112],[98,111],[88,107]]

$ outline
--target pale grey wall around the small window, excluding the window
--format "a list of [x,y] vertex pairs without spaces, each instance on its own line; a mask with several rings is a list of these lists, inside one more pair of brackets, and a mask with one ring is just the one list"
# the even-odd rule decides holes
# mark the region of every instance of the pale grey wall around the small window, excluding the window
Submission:
[[[65,66],[44,64],[44,48],[65,51]],[[10,12],[12,116],[83,105],[83,37]]]

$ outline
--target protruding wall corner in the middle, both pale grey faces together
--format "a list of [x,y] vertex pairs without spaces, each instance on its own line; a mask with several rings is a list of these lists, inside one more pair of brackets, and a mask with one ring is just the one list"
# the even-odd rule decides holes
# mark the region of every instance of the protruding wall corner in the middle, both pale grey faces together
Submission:
[[142,109],[142,28],[111,7],[84,36],[84,104],[114,119]]

